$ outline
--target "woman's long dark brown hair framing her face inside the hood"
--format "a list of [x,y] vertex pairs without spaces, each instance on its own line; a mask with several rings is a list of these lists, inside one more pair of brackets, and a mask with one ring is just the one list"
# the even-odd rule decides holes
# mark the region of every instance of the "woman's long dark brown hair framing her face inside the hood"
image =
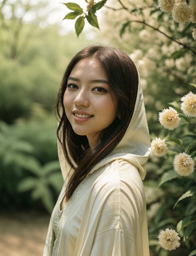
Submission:
[[[118,113],[120,116],[120,119],[116,117],[110,126],[101,131],[93,152],[88,144],[87,137],[76,134],[72,129],[63,105],[64,92],[71,70],[80,60],[89,57],[98,60],[105,70],[110,88],[118,98]],[[139,76],[133,61],[127,54],[113,47],[88,46],[78,52],[68,64],[57,95],[56,104],[57,119],[59,120],[57,138],[61,143],[68,164],[74,169],[66,188],[66,201],[70,199],[78,184],[91,169],[110,154],[124,136],[134,112],[138,83]],[[61,129],[62,136],[60,138]]]

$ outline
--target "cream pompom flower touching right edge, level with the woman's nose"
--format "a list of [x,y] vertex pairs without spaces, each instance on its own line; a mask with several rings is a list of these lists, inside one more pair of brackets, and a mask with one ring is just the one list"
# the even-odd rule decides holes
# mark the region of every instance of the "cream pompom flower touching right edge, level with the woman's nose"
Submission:
[[196,117],[196,94],[189,91],[181,98],[181,110],[188,117]]

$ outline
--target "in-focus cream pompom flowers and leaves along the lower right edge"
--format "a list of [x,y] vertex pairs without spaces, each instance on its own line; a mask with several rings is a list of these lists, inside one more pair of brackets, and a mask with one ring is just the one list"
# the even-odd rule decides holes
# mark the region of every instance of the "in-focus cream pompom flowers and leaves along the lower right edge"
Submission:
[[[196,87],[195,84],[192,84],[194,87]],[[180,108],[181,111],[177,112],[176,109],[169,107],[169,109],[163,109],[162,112],[159,112],[159,122],[160,124],[168,129],[168,130],[174,130],[177,127],[180,126],[180,120],[179,113],[182,112],[185,116],[182,116],[185,118],[186,123],[182,125],[189,126],[189,124],[194,125],[193,130],[196,130],[196,121],[194,117],[196,117],[196,94],[194,94],[192,91],[189,91],[186,95],[181,97],[180,99],[182,101]],[[179,108],[177,105],[177,102],[172,102],[172,105],[175,105],[176,108]],[[189,120],[188,118],[192,118],[193,120]],[[172,167],[177,175],[180,175],[182,177],[185,177],[187,179],[188,176],[190,176],[189,185],[192,185],[190,187],[190,190],[186,191],[182,194],[182,196],[177,200],[175,203],[173,209],[176,207],[176,204],[185,199],[186,197],[193,196],[196,193],[196,176],[193,176],[193,172],[195,171],[195,161],[194,158],[196,157],[196,140],[195,140],[195,134],[196,133],[190,133],[190,138],[192,139],[192,143],[189,143],[188,145],[184,145],[183,141],[178,138],[170,138],[170,134],[168,134],[164,139],[155,138],[151,142],[152,146],[152,152],[158,156],[162,157],[167,154],[169,151],[170,154],[175,154],[173,161],[172,161]],[[177,144],[177,150],[183,151],[178,152],[176,154],[176,148],[169,148],[167,146]],[[185,149],[186,147],[186,149]],[[176,174],[173,173],[173,171],[169,171],[167,173],[163,173],[162,179],[159,183],[159,186],[161,186],[164,182],[167,182],[171,179],[176,178]],[[184,181],[188,182],[188,181]],[[193,203],[190,202],[192,205]],[[189,205],[190,205],[189,204]],[[195,209],[196,210],[196,209]],[[160,230],[159,235],[157,238],[159,238],[159,245],[168,251],[175,250],[180,246],[180,238],[179,234],[181,234],[183,241],[185,242],[186,239],[189,237],[189,235],[193,232],[194,229],[196,229],[196,215],[195,210],[191,211],[188,217],[185,217],[179,223],[177,224],[176,228],[177,231],[174,229],[166,228],[165,230]],[[193,221],[192,218],[195,218]],[[182,224],[184,223],[184,224]],[[185,229],[184,231],[182,231]]]

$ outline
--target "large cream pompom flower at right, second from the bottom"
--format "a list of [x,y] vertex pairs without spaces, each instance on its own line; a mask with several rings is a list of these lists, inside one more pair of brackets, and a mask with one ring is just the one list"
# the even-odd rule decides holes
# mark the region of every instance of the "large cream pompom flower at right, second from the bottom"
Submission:
[[189,176],[194,172],[195,162],[185,152],[176,154],[173,160],[174,170],[181,176]]

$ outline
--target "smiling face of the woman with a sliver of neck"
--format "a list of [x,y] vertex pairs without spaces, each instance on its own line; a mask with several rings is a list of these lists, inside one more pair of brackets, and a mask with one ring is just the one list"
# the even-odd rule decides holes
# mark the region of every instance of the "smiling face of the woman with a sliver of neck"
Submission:
[[86,135],[90,147],[101,130],[115,120],[118,100],[95,58],[80,60],[71,70],[64,92],[64,108],[72,129],[78,135]]

